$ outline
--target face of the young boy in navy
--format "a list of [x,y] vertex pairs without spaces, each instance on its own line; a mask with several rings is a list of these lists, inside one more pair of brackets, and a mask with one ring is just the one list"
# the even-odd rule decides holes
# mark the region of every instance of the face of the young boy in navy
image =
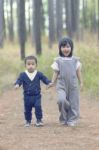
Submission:
[[37,64],[34,59],[30,59],[30,60],[28,59],[26,61],[25,66],[26,66],[26,69],[28,70],[28,72],[30,72],[30,73],[34,72],[37,68]]

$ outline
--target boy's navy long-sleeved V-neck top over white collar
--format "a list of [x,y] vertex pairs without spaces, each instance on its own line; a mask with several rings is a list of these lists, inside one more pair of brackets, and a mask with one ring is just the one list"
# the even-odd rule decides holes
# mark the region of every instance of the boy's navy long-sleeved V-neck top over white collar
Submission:
[[41,93],[40,81],[46,85],[51,82],[42,72],[37,71],[33,80],[30,80],[27,74],[22,72],[15,84],[18,84],[19,86],[23,85],[24,95],[36,96]]

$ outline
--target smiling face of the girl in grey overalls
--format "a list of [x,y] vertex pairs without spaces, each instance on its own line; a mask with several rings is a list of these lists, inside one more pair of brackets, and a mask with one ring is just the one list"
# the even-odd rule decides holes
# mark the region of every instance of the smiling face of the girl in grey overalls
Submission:
[[61,46],[61,52],[65,57],[68,57],[71,53],[70,45],[67,43],[66,45]]

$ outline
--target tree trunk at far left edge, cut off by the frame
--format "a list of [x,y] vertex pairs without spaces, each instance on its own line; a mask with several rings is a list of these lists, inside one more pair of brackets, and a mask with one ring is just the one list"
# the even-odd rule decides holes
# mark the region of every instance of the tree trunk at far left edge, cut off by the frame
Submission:
[[4,1],[0,0],[0,47],[3,47],[4,41],[4,11],[3,11]]

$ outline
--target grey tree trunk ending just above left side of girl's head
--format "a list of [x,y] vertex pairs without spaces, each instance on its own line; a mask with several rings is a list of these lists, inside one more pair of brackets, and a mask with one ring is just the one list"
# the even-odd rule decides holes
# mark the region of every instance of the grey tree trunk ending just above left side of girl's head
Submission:
[[57,31],[57,40],[60,40],[62,37],[63,31],[63,0],[56,0],[56,31]]

